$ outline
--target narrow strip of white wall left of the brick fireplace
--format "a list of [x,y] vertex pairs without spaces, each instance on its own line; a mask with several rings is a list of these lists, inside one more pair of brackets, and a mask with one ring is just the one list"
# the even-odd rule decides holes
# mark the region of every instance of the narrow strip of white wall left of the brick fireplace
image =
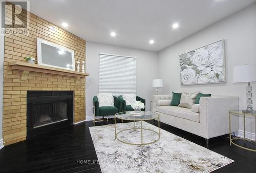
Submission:
[[0,149],[3,147],[3,72],[4,72],[4,36],[0,36]]

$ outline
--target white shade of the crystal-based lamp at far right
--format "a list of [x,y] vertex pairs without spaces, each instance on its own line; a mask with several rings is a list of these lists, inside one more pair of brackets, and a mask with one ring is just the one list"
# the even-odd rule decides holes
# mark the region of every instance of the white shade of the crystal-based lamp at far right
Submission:
[[234,67],[233,83],[255,82],[255,81],[256,81],[256,63]]

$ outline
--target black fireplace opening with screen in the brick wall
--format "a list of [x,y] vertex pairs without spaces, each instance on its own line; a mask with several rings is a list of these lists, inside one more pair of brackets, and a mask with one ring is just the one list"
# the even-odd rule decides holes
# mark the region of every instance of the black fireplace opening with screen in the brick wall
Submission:
[[73,91],[27,91],[27,138],[72,125]]

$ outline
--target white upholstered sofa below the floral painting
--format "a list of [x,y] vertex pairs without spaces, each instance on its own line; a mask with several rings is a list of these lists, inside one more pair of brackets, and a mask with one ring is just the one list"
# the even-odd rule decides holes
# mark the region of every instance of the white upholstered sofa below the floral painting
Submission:
[[[170,105],[157,105],[158,100],[172,100],[172,95],[153,95],[153,111],[160,115],[160,121],[189,133],[208,139],[229,133],[230,110],[238,110],[239,97],[201,97],[199,113],[191,109]],[[238,131],[238,117],[231,119],[232,132]]]

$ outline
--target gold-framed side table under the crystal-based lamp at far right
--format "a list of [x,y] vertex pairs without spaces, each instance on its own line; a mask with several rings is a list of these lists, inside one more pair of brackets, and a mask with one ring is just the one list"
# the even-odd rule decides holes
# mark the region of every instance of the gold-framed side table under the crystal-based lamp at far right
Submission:
[[[242,115],[243,116],[243,121],[244,121],[244,137],[243,138],[239,138],[239,137],[231,138],[231,125],[232,125],[231,124],[231,115],[233,115],[233,116]],[[256,146],[256,139],[255,140],[251,140],[251,139],[247,139],[245,137],[245,117],[254,117],[254,119],[255,119],[255,131],[256,131],[256,114],[251,114],[251,113],[243,112],[242,110],[232,110],[232,111],[229,111],[229,144],[230,144],[230,146],[233,144],[235,146],[238,146],[240,148],[249,150],[251,152],[256,152],[256,148],[255,149],[251,149],[251,148],[247,148],[247,147],[244,147],[244,146],[241,146],[239,144],[234,143],[234,141],[236,141],[236,140],[244,140],[244,143],[246,141],[249,141],[249,142],[253,142],[255,144],[255,146]]]

